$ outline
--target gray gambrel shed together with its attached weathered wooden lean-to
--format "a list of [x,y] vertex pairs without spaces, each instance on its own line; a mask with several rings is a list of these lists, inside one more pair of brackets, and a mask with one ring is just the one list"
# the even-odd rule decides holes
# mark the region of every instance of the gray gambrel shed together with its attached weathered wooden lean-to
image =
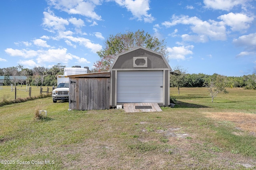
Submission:
[[69,108],[109,109],[124,103],[170,105],[170,71],[164,56],[144,47],[117,55],[109,72],[69,75]]

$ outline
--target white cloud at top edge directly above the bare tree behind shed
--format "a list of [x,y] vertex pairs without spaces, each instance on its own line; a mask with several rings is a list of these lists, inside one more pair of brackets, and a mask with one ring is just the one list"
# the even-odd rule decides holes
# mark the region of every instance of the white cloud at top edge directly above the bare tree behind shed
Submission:
[[148,14],[149,0],[115,0],[117,4],[125,7],[128,11],[132,12],[134,16],[132,19],[144,20],[144,22],[151,23],[155,18]]

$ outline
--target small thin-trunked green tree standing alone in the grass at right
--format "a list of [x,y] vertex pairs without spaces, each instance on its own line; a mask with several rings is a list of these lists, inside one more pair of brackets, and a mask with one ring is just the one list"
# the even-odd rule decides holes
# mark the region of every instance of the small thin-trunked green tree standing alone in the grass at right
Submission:
[[218,74],[214,74],[212,76],[212,80],[207,86],[208,91],[210,92],[210,96],[212,97],[212,102],[213,102],[213,98],[215,98],[218,93],[220,92],[224,92],[225,94],[228,93],[228,91],[226,90],[226,86],[227,86],[227,81],[225,76],[221,76]]

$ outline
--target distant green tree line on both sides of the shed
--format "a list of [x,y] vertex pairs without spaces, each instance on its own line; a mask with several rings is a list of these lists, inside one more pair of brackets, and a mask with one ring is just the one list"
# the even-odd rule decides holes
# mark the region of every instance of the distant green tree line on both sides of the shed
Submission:
[[[24,68],[24,66],[18,64],[15,67],[0,68],[0,76],[4,76],[4,85],[10,84],[28,84],[31,86],[56,86],[57,76],[62,75],[66,66],[58,63],[52,68],[45,68],[36,66],[32,69]],[[170,75],[171,87],[208,87],[212,82],[216,82],[216,79],[221,78],[226,88],[240,87],[245,89],[256,90],[256,74],[244,75],[244,76],[222,76],[219,74],[207,75],[203,73],[199,74],[186,74],[186,70],[177,66],[174,68],[176,75]],[[26,76],[26,80],[12,80],[10,76]]]

